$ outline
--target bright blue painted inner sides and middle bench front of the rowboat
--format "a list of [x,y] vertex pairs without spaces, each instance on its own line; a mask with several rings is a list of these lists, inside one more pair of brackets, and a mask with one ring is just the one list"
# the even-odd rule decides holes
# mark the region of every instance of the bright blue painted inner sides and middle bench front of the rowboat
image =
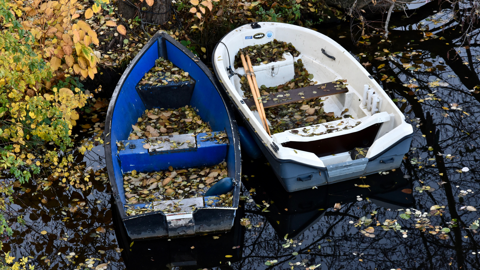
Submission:
[[[166,41],[166,44],[168,60],[172,61],[175,65],[188,72],[196,80],[192,99],[189,105],[197,110],[197,113],[200,115],[202,120],[208,122],[213,130],[225,130],[227,132],[230,144],[233,145],[233,135],[230,128],[227,109],[225,108],[225,105],[216,87],[190,56],[186,55],[181,49],[171,44],[168,40]],[[132,67],[130,74],[125,79],[125,82],[120,90],[120,94],[115,101],[115,108],[112,114],[111,133],[109,135],[111,136],[112,142],[111,154],[113,157],[115,181],[119,189],[121,202],[123,204],[126,203],[125,197],[122,196],[124,193],[122,179],[124,171],[122,171],[120,165],[120,158],[117,154],[118,148],[115,142],[124,141],[128,138],[130,132],[132,131],[132,124],[137,122],[137,118],[140,117],[146,109],[144,103],[135,90],[135,86],[144,76],[144,74],[155,65],[155,60],[158,58],[158,41],[153,42],[148,49],[144,49],[146,49],[146,51],[135,64],[135,66]],[[201,156],[201,159],[192,154],[199,152],[198,150],[196,152],[184,152],[183,154],[177,153],[180,154],[178,160],[185,162],[181,164],[178,163],[178,168],[193,168],[203,166],[192,166],[196,164],[195,162],[198,163],[198,160],[209,160],[208,162],[212,162],[210,165],[218,164],[219,162],[226,160],[228,164],[228,176],[236,178],[235,151],[233,147],[230,147],[230,145],[216,145],[215,147],[205,145],[205,147],[199,148],[215,150],[209,154],[204,154]],[[190,154],[190,157],[187,156],[187,154]],[[163,162],[171,162],[170,160],[166,160],[171,159],[172,155],[173,154],[154,155],[158,157],[164,157],[151,162],[157,163],[154,165],[154,167],[152,167],[152,171],[158,170],[157,168],[165,168],[170,166]],[[221,155],[223,156],[220,160]],[[134,160],[132,159],[130,162],[133,163],[133,161]],[[144,162],[139,158],[136,158],[136,161],[138,163]],[[173,167],[177,168],[176,166]]]

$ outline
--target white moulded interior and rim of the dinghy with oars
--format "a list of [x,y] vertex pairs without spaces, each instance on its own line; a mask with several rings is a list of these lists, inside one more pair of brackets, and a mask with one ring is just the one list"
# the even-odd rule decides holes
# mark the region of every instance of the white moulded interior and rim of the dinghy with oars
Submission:
[[[412,133],[411,125],[405,122],[404,115],[381,86],[348,51],[334,40],[296,25],[270,22],[258,23],[258,25],[261,28],[252,29],[251,25],[244,25],[228,33],[221,40],[225,46],[221,44],[217,46],[213,59],[221,82],[263,143],[269,147],[274,142],[279,147],[275,152],[278,159],[297,160],[317,167],[326,167],[351,160],[348,150],[352,150],[353,147],[334,155],[323,155],[322,151],[315,150],[325,144],[338,144],[335,147],[339,147],[346,141],[362,141],[370,136],[373,139],[369,143],[370,148],[366,157],[372,158]],[[264,33],[264,37],[252,38],[257,36],[257,33]],[[344,110],[348,109],[348,115],[351,118],[312,124],[305,128],[296,128],[294,132],[286,130],[272,136],[266,133],[258,112],[250,110],[249,106],[243,102],[245,93],[240,89],[239,76],[234,75],[229,78],[227,68],[230,64],[233,66],[234,57],[239,49],[265,44],[274,39],[292,43],[295,49],[300,51],[300,55],[294,57],[284,53],[284,61],[253,66],[258,86],[277,86],[291,80],[294,77],[293,62],[301,59],[308,73],[313,74],[311,80],[317,82],[318,86],[337,80],[347,80],[348,92],[322,97],[323,109],[325,112],[334,112],[335,116],[340,116]],[[228,59],[228,53],[230,59]],[[245,74],[243,68],[237,68],[234,71]],[[317,90],[310,87],[306,91],[316,93]],[[372,128],[373,126],[376,126],[376,129]],[[372,135],[373,132],[376,132],[376,135]],[[335,137],[339,137],[339,140],[335,140]],[[329,138],[330,140],[327,140]],[[312,147],[314,145],[315,147]],[[357,147],[360,146],[361,144]]]

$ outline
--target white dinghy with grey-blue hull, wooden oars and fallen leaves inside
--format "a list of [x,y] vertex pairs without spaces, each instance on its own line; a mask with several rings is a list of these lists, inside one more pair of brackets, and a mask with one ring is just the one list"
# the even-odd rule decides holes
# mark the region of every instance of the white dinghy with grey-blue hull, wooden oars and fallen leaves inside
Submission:
[[[283,59],[268,57],[272,46]],[[236,57],[240,49],[252,70]],[[360,63],[323,34],[282,23],[243,25],[221,39],[212,62],[287,191],[398,168],[408,152],[412,126]],[[260,113],[245,87],[249,75],[260,86]]]

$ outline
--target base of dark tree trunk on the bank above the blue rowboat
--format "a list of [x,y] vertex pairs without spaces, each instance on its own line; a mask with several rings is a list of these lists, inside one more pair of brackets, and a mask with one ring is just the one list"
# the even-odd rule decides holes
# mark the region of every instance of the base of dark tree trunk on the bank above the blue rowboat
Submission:
[[[169,0],[155,0],[152,6],[149,6],[146,1],[139,2],[138,0],[118,0],[117,4],[118,13],[125,19],[133,19],[138,16],[139,19],[143,19],[146,23],[162,25],[168,22],[168,19],[170,18],[170,12],[168,12],[170,8]],[[139,10],[133,6],[138,6],[140,8],[140,13]]]

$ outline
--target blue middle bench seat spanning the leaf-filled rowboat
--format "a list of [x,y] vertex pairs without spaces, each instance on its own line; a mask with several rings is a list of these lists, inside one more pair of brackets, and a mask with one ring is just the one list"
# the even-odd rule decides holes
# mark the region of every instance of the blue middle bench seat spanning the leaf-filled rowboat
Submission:
[[132,170],[158,172],[168,170],[168,166],[175,169],[196,168],[223,162],[227,155],[227,144],[217,144],[216,141],[211,142],[209,140],[202,142],[204,139],[201,137],[206,135],[206,133],[198,134],[196,136],[197,147],[190,148],[189,151],[179,149],[170,150],[171,153],[153,155],[150,155],[148,150],[142,147],[142,142],[145,139],[123,141],[124,145],[129,142],[130,145],[134,144],[137,147],[131,149],[127,146],[125,150],[120,150],[118,155],[121,169],[123,172],[131,172]]

